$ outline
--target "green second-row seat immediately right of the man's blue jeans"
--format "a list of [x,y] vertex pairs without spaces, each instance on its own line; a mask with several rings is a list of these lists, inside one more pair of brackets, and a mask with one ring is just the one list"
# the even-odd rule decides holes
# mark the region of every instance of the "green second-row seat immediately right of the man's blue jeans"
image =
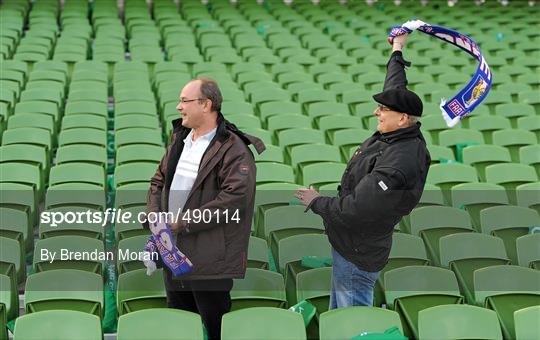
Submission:
[[418,338],[418,313],[429,307],[459,304],[458,282],[448,269],[406,266],[384,274],[385,297],[398,312],[406,337]]

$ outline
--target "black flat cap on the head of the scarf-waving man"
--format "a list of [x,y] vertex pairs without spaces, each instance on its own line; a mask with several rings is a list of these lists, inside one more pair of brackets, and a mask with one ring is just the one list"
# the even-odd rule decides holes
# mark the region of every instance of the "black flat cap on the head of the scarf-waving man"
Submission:
[[379,104],[387,106],[394,111],[403,112],[411,116],[422,116],[422,100],[418,95],[407,89],[388,89],[373,96]]

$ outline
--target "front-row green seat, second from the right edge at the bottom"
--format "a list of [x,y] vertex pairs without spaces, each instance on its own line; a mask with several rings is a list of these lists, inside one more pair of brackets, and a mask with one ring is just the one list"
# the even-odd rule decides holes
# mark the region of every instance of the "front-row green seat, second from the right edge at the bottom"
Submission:
[[421,310],[418,336],[421,339],[502,339],[497,314],[469,305],[443,305]]

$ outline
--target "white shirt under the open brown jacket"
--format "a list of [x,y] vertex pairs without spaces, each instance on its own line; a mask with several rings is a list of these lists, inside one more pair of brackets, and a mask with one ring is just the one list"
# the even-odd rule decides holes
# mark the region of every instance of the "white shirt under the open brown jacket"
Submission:
[[176,165],[169,191],[169,212],[175,216],[179,211],[182,211],[184,204],[186,204],[189,192],[199,173],[202,156],[215,135],[216,129],[213,129],[193,141],[193,130],[191,130],[184,139],[184,149]]

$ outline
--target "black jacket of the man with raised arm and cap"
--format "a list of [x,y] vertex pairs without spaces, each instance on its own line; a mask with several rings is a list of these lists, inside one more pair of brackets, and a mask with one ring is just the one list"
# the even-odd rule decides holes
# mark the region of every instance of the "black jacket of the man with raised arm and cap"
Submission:
[[[405,65],[394,52],[385,90],[406,86]],[[319,197],[310,206],[323,218],[334,249],[362,270],[384,268],[394,226],[420,200],[430,161],[420,123],[364,141],[345,169],[338,197]]]

